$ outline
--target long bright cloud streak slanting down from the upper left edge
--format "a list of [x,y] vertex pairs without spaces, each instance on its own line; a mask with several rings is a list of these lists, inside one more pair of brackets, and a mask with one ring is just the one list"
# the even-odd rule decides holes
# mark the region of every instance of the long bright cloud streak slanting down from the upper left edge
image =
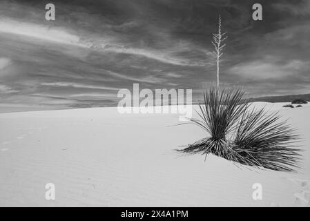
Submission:
[[[0,19],[0,32],[32,37],[59,44],[69,44],[81,48],[88,48],[90,50],[101,50],[106,52],[142,56],[148,59],[154,59],[162,63],[173,64],[177,66],[204,66],[204,62],[198,63],[194,59],[186,59],[185,57],[182,58],[171,55],[172,53],[178,52],[178,48],[180,46],[170,48],[169,50],[133,48],[126,46],[126,42],[117,43],[117,39],[110,39],[111,37],[100,39],[96,34],[81,37],[79,35],[71,34],[64,27],[50,27],[36,23],[21,22],[8,18]],[[100,43],[101,41],[106,42]],[[115,41],[115,44],[112,44],[111,41]]]

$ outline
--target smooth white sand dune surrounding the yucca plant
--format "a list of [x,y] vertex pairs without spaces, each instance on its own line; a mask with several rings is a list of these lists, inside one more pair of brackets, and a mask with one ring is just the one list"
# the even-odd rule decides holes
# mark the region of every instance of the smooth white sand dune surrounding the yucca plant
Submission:
[[[0,114],[0,206],[309,206],[310,105],[255,103],[289,118],[303,138],[298,173],[241,169],[178,146],[204,137],[177,115],[117,108]],[[197,108],[197,107],[195,107]],[[56,199],[46,200],[53,183]],[[262,200],[252,185],[262,184]]]

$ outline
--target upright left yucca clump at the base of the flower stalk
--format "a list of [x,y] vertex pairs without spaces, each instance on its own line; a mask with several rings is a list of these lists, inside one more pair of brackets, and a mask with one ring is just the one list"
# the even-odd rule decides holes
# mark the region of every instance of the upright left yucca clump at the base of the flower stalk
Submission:
[[222,92],[211,88],[205,93],[204,104],[200,105],[200,113],[197,112],[201,119],[191,119],[191,122],[203,128],[210,137],[188,145],[182,152],[214,153],[221,156],[226,151],[222,147],[227,143],[227,135],[248,106],[242,101],[243,94],[238,88]]

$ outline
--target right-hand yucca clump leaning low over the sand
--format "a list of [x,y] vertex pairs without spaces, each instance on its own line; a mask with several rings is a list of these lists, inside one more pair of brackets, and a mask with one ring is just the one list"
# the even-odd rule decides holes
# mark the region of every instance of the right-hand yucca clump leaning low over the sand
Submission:
[[238,124],[233,146],[237,159],[249,166],[275,171],[293,171],[298,163],[298,136],[278,113],[268,114],[264,108],[244,113]]

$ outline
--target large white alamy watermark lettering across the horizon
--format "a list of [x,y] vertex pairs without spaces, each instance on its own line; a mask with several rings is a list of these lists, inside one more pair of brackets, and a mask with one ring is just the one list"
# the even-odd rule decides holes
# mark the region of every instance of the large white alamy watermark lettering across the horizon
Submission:
[[[139,90],[139,84],[133,84],[133,93],[121,89],[117,93],[122,98],[117,105],[119,113],[173,113],[178,114],[181,121],[192,117],[191,89],[155,89]],[[169,105],[170,103],[170,105]]]

